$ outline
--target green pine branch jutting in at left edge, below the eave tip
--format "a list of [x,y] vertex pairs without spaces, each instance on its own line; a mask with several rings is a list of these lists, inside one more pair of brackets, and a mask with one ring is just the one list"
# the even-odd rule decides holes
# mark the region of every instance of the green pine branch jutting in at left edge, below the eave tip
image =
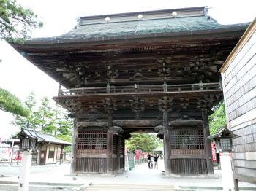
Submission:
[[4,112],[27,116],[29,112],[24,108],[20,100],[9,91],[0,87],[0,109]]

